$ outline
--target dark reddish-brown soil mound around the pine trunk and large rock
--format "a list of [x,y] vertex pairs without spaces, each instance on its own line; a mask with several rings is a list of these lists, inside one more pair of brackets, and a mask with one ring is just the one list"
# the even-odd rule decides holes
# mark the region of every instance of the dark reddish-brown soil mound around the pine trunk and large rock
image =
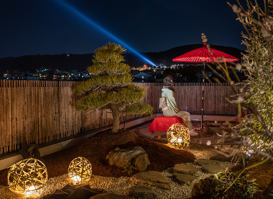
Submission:
[[[194,155],[185,150],[169,148],[161,142],[140,138],[133,132],[119,130],[112,133],[111,130],[100,131],[94,136],[84,140],[77,146],[65,149],[42,158],[47,168],[48,177],[66,174],[69,163],[76,157],[85,157],[92,164],[92,174],[106,177],[132,176],[137,173],[133,170],[131,175],[124,169],[110,166],[106,161],[106,155],[116,147],[128,148],[141,146],[148,154],[150,165],[146,171],[164,171],[175,164],[194,161]],[[7,186],[8,169],[0,171],[0,185]]]

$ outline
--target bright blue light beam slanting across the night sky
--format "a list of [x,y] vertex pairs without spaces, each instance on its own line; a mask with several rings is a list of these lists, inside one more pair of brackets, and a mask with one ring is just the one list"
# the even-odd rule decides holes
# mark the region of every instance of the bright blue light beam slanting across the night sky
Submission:
[[[130,49],[132,52],[136,53],[139,57],[141,57],[142,59],[144,59],[145,61],[147,61],[148,63],[150,63],[153,66],[156,66],[154,63],[152,63],[150,60],[146,59],[145,57],[143,57],[142,55],[140,55],[137,51],[135,51],[134,49],[132,49],[131,47],[129,47],[126,43],[124,43],[123,41],[121,41],[119,38],[117,38],[116,36],[114,36],[113,34],[111,34],[110,32],[106,31],[104,28],[102,28],[101,26],[99,26],[98,24],[96,24],[95,22],[93,22],[92,20],[90,20],[89,18],[87,18],[84,14],[80,13],[80,11],[76,10],[74,7],[72,7],[71,5],[68,5],[67,3],[63,2],[63,1],[54,1],[54,2],[58,2],[61,5],[63,5],[64,7],[66,7],[69,11],[71,11],[72,13],[74,13],[75,15],[77,15],[79,18],[83,19],[85,22],[87,22],[88,24],[96,27],[98,30],[100,30],[101,32],[103,32],[104,34],[106,34],[107,36],[113,38],[114,40],[116,40],[118,43],[120,43],[121,45],[125,46],[127,49]],[[157,67],[157,66],[156,66]]]

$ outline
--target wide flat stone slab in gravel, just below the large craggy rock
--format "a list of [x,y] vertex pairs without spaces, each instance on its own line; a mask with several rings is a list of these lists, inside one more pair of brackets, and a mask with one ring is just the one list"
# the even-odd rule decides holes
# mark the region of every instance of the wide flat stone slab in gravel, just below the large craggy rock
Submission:
[[145,171],[133,175],[131,178],[133,182],[139,182],[148,185],[158,186],[164,189],[171,190],[171,183],[161,173],[157,171]]

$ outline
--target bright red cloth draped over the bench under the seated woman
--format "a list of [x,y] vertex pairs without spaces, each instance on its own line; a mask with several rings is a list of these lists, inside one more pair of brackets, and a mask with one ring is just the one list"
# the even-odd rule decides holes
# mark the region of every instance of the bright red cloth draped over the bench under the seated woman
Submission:
[[183,124],[181,117],[177,117],[177,116],[166,117],[166,116],[162,115],[162,116],[156,117],[152,121],[152,123],[148,127],[148,130],[150,132],[153,132],[155,130],[167,131],[169,129],[169,127],[175,123]]

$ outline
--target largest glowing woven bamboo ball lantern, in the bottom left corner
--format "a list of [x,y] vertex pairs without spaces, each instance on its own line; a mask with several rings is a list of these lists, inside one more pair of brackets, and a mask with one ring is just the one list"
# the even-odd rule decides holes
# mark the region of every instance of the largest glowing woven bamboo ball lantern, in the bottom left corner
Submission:
[[8,172],[9,189],[24,195],[38,194],[47,181],[47,170],[38,159],[24,159],[11,166]]

